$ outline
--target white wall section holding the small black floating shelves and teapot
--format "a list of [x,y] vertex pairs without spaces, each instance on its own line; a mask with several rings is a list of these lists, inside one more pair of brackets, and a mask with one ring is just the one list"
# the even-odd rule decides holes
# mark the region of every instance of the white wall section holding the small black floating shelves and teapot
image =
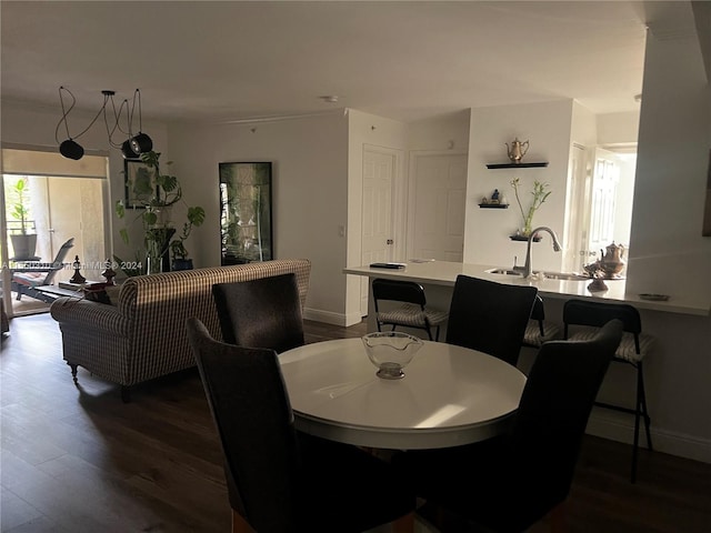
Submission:
[[[524,212],[530,205],[533,182],[538,180],[550,185],[552,193],[537,211],[533,227],[547,225],[562,234],[572,110],[572,100],[471,110],[464,262],[512,266],[517,257],[518,264],[523,264],[525,242],[509,239],[522,227],[521,212],[510,184],[513,178],[521,180],[519,195]],[[549,165],[487,169],[487,163],[509,162],[504,143],[511,145],[514,138],[521,142],[529,141],[524,162],[548,161]],[[509,209],[479,208],[482,197],[491,198],[494,189],[507,197]],[[533,247],[535,268],[561,270],[562,254],[553,252],[550,235],[545,233],[543,240]]]

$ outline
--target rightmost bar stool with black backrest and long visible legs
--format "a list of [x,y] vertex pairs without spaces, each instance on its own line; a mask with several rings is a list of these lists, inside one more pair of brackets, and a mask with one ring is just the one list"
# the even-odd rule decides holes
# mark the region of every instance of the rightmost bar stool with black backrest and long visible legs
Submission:
[[[623,323],[624,335],[618,346],[613,362],[630,364],[637,370],[637,399],[634,409],[614,405],[604,402],[595,402],[595,405],[622,411],[634,415],[634,444],[632,446],[632,473],[631,482],[637,482],[637,461],[639,451],[640,419],[644,419],[647,433],[647,447],[652,451],[652,435],[650,432],[651,419],[647,410],[647,395],[644,393],[643,360],[653,343],[651,335],[642,333],[642,320],[637,308],[630,304],[600,303],[588,300],[569,300],[563,305],[563,336],[570,340],[587,340],[594,335],[598,328],[612,319],[619,319]],[[569,326],[588,326],[585,329]]]

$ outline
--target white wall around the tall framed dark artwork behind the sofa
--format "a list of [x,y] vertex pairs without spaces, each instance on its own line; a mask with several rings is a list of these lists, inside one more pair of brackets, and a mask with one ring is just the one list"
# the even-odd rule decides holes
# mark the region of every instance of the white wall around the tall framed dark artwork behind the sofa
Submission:
[[196,266],[220,264],[218,163],[272,162],[274,258],[312,262],[307,318],[342,323],[346,308],[348,118],[310,118],[237,124],[169,125],[174,171],[190,203],[206,208],[193,230]]

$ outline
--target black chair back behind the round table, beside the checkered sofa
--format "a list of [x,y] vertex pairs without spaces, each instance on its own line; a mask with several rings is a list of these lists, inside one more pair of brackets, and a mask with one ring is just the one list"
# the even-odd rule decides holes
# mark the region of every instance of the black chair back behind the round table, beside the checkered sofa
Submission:
[[212,296],[226,342],[277,353],[303,345],[303,315],[293,273],[217,283]]

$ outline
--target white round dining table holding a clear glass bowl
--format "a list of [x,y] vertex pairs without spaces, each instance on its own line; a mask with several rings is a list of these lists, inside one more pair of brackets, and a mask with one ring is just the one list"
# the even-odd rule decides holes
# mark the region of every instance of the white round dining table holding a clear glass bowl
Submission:
[[317,342],[279,355],[298,430],[349,444],[449,447],[505,431],[525,375],[482,352],[424,341],[404,378],[384,380],[361,339]]

